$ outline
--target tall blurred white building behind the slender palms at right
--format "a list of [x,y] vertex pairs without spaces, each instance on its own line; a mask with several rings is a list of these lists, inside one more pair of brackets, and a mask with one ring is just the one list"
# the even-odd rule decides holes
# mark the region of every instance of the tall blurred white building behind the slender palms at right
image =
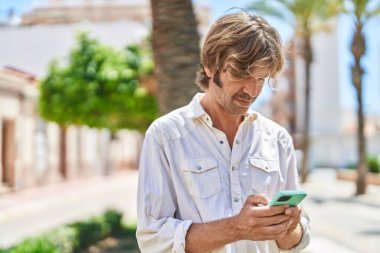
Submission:
[[[331,31],[320,32],[312,38],[314,61],[311,69],[311,167],[345,167],[357,160],[356,112],[343,109],[339,66],[348,64],[340,55],[339,21],[333,21]],[[303,129],[304,75],[303,61],[296,60],[297,127]],[[350,85],[350,84],[347,84]],[[352,98],[353,100],[355,97]],[[367,118],[368,153],[380,154],[380,133],[376,120]],[[372,131],[371,131],[372,129]]]

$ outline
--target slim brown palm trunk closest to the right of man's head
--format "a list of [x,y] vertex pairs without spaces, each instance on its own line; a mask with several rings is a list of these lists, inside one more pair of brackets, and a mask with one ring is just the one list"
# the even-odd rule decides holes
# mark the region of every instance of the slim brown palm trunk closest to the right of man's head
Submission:
[[311,63],[313,53],[311,49],[311,34],[306,32],[303,37],[303,58],[305,61],[305,111],[304,111],[304,131],[303,131],[303,159],[301,165],[301,182],[307,180],[309,174],[309,133],[310,133],[310,81],[311,81]]

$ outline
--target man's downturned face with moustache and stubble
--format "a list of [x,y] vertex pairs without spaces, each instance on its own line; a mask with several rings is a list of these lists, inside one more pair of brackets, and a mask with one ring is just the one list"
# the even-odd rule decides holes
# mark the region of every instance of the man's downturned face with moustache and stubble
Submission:
[[228,71],[223,71],[218,78],[211,78],[209,85],[210,96],[218,106],[230,115],[245,115],[256,100],[264,86],[268,73],[264,70],[256,71],[255,77],[233,80]]

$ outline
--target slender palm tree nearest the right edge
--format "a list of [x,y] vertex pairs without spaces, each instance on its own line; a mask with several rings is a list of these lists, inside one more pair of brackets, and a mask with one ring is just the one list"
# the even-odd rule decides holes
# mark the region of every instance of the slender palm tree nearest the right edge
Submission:
[[351,53],[354,58],[354,64],[351,66],[352,83],[356,90],[356,99],[358,102],[358,178],[356,181],[356,194],[365,194],[367,182],[366,176],[368,172],[368,166],[366,162],[366,139],[364,136],[364,111],[363,111],[363,83],[362,77],[364,69],[362,66],[362,58],[366,53],[365,36],[363,28],[365,24],[375,15],[380,14],[380,4],[373,9],[369,8],[370,0],[350,0],[348,12],[354,17],[355,32],[351,42]]

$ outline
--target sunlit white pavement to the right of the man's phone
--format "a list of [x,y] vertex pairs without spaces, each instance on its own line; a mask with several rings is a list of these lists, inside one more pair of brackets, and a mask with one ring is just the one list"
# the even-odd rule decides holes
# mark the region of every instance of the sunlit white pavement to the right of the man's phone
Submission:
[[354,182],[336,180],[333,169],[315,170],[301,186],[311,218],[312,242],[307,253],[379,253],[380,187],[354,196]]

